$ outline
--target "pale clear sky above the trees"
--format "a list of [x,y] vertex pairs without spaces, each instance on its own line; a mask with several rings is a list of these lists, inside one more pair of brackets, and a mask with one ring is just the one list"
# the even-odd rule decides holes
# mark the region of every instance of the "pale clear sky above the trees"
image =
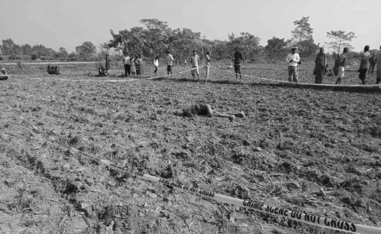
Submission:
[[381,0],[0,0],[0,40],[42,44],[70,53],[118,32],[157,18],[169,27],[189,28],[207,39],[227,40],[228,33],[250,32],[267,45],[273,36],[290,39],[293,21],[309,16],[315,43],[328,41],[330,30],[353,31],[355,51],[381,45]]

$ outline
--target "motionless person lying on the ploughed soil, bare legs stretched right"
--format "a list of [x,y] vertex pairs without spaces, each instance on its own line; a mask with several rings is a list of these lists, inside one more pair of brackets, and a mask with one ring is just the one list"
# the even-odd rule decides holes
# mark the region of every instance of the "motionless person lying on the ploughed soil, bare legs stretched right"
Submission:
[[192,118],[195,115],[208,115],[209,117],[223,117],[223,118],[229,118],[229,120],[232,122],[235,119],[235,116],[245,118],[246,115],[241,112],[217,112],[213,111],[213,108],[210,106],[210,104],[194,104],[191,106],[184,107],[182,111],[175,112],[176,115],[184,115],[186,117]]

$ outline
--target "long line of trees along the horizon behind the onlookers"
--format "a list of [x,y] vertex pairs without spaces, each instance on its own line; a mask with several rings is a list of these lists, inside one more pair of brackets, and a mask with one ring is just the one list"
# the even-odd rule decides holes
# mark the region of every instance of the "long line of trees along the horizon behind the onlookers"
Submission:
[[[155,56],[163,58],[166,51],[170,50],[174,58],[182,60],[189,58],[192,50],[197,50],[199,53],[211,51],[215,60],[223,60],[231,59],[234,48],[238,48],[246,61],[282,61],[293,47],[298,48],[302,58],[313,58],[322,46],[320,43],[314,42],[312,37],[314,30],[309,24],[309,17],[293,21],[295,29],[291,31],[291,39],[286,40],[274,36],[267,40],[266,46],[259,45],[261,38],[250,32],[241,32],[239,35],[230,33],[227,40],[209,40],[202,37],[201,32],[193,32],[186,28],[171,29],[167,22],[158,19],[141,19],[139,22],[142,26],[120,30],[117,33],[110,29],[111,39],[103,43],[101,53],[98,51],[98,58],[105,53],[104,50],[110,49],[117,51],[119,56],[129,52],[142,54],[149,58]],[[344,47],[353,49],[350,42],[355,37],[354,32],[331,30],[327,32],[329,41],[325,42],[324,46],[334,50],[333,55],[335,55],[340,53]],[[30,55],[31,59],[88,59],[94,58],[97,51],[91,42],[83,42],[82,45],[75,48],[75,52],[70,54],[63,47],[54,51],[43,45],[19,46],[10,38],[2,40],[2,42],[0,47],[2,54],[9,55],[10,59],[16,59],[18,55]],[[352,52],[352,54],[358,55],[356,52]]]

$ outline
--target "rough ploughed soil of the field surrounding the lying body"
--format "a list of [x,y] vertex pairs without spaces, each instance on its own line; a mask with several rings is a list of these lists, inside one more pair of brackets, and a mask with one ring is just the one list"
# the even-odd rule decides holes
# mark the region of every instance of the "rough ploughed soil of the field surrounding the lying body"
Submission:
[[[44,66],[10,67],[44,80],[10,77],[0,82],[0,97],[61,143],[97,159],[227,196],[381,227],[380,93],[235,82],[221,65],[211,70],[207,88],[189,79],[190,72],[89,83],[57,79],[126,78],[117,69],[88,77],[95,69],[86,64],[58,76]],[[360,83],[355,70],[343,82]],[[242,72],[287,79],[285,67],[274,64],[245,64]],[[160,67],[158,74],[165,73]],[[313,82],[312,65],[303,64],[299,78]],[[375,75],[368,80],[374,83]],[[247,118],[173,114],[194,103],[244,111]],[[338,233],[121,175],[71,155],[3,103],[0,111],[1,233]]]

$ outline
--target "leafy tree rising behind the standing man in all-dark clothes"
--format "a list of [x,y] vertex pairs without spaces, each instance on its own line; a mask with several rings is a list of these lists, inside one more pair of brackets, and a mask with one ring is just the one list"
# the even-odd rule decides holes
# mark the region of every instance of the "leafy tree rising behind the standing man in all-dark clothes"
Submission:
[[236,37],[234,33],[228,35],[229,46],[231,51],[234,51],[234,48],[238,48],[245,56],[246,59],[255,57],[258,53],[258,44],[261,38],[256,37],[249,32],[241,32],[239,37]]

